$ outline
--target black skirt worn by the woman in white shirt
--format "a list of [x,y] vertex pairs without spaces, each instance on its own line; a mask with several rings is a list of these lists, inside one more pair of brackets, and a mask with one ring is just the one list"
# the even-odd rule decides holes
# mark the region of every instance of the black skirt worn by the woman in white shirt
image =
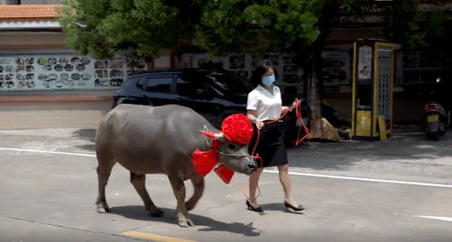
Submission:
[[[248,146],[250,154],[252,154],[255,148],[258,131],[255,126],[253,126],[253,129],[253,138]],[[262,158],[262,161],[256,161],[259,167],[277,166],[288,163],[283,135],[281,135],[281,126],[278,122],[265,124],[259,130],[259,142],[255,148],[255,154],[259,154]]]

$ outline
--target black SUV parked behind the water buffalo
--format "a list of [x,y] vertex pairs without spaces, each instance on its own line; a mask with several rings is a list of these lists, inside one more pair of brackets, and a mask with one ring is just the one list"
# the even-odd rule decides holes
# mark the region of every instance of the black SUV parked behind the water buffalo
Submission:
[[191,107],[216,127],[226,116],[246,112],[245,79],[227,70],[153,70],[133,74],[118,89],[113,107],[123,103]]

